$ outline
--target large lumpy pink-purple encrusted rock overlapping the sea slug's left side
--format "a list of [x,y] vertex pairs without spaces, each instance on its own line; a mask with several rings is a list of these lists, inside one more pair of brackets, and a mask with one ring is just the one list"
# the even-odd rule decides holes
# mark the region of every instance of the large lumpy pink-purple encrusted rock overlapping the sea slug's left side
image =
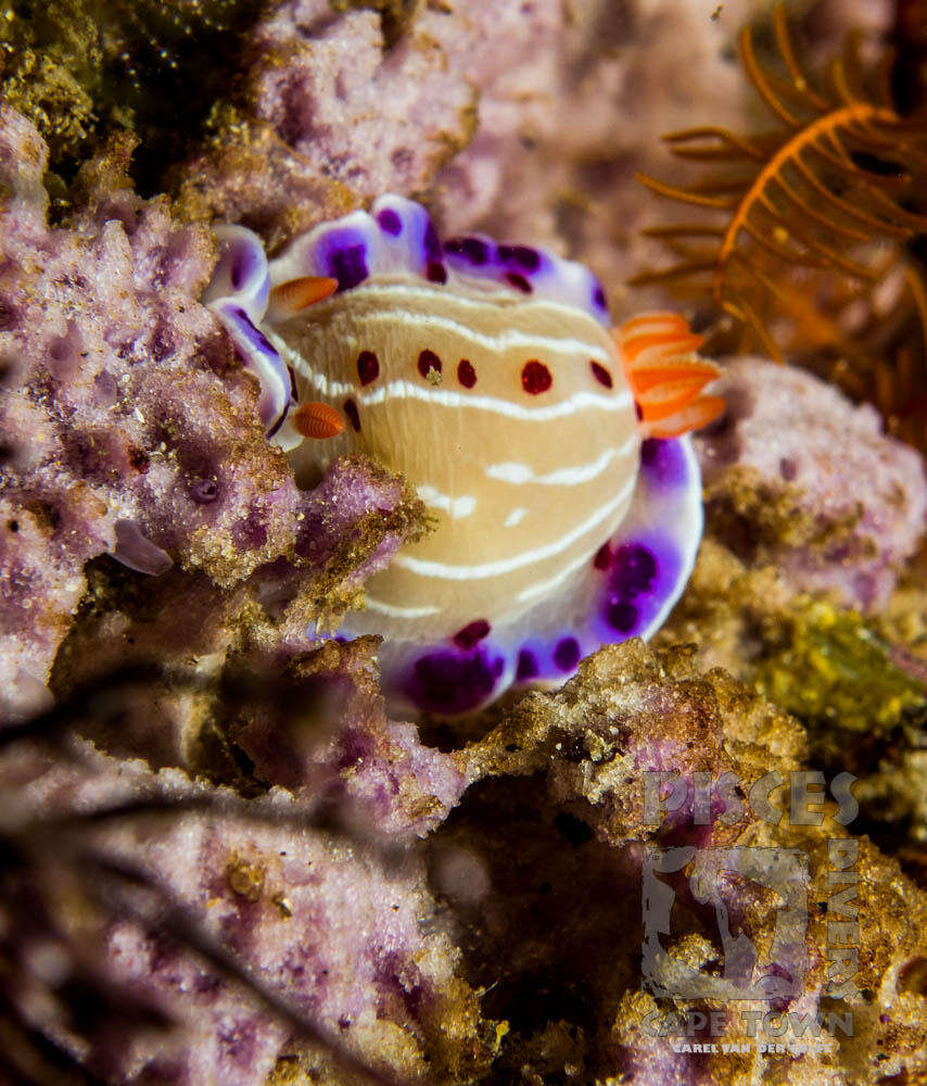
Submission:
[[47,696],[90,558],[225,586],[291,559],[275,570],[278,610],[305,629],[420,527],[402,482],[359,459],[297,490],[256,382],[198,301],[212,236],[126,188],[129,152],[117,142],[87,167],[85,210],[50,228],[47,149],[0,112],[0,675],[23,712]]

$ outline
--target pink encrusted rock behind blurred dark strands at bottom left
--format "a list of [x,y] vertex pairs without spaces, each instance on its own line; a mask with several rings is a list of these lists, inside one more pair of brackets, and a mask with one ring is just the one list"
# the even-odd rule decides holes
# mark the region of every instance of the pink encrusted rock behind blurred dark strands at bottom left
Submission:
[[[103,1081],[354,1083],[369,1068],[444,1083],[485,1068],[475,994],[414,856],[314,830],[282,790],[243,801],[81,744],[20,749],[0,778],[22,844],[0,906],[16,955],[4,1005]],[[4,1070],[27,1050],[28,1032],[4,1031]]]

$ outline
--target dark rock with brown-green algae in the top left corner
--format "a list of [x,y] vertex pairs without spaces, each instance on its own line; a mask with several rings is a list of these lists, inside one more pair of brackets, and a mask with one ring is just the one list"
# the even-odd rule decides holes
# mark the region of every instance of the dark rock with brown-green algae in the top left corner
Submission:
[[[0,24],[0,94],[49,144],[54,211],[114,136],[141,144],[140,188],[192,142],[236,71],[263,0],[12,0]],[[208,56],[208,63],[203,58]]]

